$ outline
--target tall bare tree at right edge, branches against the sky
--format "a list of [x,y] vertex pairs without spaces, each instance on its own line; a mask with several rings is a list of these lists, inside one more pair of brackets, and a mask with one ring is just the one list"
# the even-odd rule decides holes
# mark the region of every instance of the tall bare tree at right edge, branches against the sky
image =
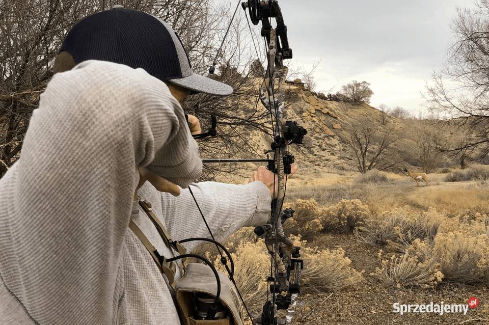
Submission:
[[429,109],[445,118],[443,124],[471,134],[447,149],[459,154],[469,149],[483,159],[489,153],[489,1],[475,5],[458,9],[448,59],[433,73],[426,98]]

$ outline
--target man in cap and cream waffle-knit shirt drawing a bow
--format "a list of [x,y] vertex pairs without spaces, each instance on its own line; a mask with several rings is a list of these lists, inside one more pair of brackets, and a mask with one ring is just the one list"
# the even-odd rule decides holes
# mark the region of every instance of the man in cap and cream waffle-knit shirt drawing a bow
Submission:
[[[276,176],[259,168],[247,185],[192,184],[200,127],[192,117],[187,127],[179,101],[232,89],[194,74],[154,16],[115,8],[83,19],[54,70],[22,155],[0,180],[0,319],[180,324],[174,261],[197,242],[174,239],[211,240],[199,213],[215,241],[264,224]],[[194,316],[219,318],[218,303]]]

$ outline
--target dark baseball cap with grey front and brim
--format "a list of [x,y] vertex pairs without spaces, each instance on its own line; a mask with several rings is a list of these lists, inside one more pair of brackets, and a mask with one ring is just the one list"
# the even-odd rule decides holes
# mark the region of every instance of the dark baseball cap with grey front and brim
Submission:
[[166,82],[213,95],[229,95],[233,89],[194,73],[178,34],[169,24],[145,12],[114,6],[76,23],[61,51],[75,64],[86,60],[110,61],[142,68]]

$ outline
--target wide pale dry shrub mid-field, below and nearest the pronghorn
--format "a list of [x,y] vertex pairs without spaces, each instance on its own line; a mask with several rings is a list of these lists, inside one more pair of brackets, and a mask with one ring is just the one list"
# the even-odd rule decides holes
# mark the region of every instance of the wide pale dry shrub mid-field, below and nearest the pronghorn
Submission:
[[398,252],[405,252],[416,239],[433,241],[445,216],[434,209],[417,212],[405,206],[386,211],[358,227],[355,236],[369,245],[389,244]]

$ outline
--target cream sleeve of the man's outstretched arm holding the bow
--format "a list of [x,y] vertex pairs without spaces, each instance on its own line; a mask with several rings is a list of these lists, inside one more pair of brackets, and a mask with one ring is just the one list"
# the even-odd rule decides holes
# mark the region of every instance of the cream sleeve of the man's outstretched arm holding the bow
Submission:
[[[246,185],[201,182],[189,185],[215,236],[222,241],[246,226],[259,226],[269,219],[271,196],[265,184]],[[162,193],[162,211],[168,231],[174,239],[211,238],[188,188],[179,197]],[[192,251],[198,242],[184,244]]]

